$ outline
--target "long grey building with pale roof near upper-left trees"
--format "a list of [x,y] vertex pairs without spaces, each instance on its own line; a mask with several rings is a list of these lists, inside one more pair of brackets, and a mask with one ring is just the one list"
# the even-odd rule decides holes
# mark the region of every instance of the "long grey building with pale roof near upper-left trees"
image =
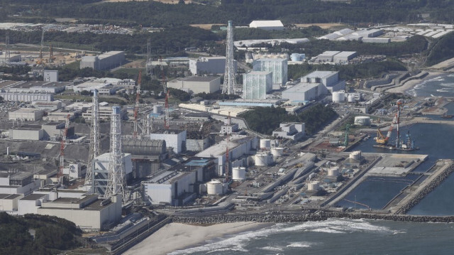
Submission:
[[98,56],[85,56],[80,61],[80,69],[90,67],[94,70],[109,70],[125,62],[123,51],[109,51]]

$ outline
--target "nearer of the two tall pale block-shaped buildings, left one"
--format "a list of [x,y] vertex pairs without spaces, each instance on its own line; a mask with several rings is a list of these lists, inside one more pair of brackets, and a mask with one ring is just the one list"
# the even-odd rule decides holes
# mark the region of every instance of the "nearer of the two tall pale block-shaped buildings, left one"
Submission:
[[266,99],[272,90],[272,72],[253,71],[243,74],[243,99]]

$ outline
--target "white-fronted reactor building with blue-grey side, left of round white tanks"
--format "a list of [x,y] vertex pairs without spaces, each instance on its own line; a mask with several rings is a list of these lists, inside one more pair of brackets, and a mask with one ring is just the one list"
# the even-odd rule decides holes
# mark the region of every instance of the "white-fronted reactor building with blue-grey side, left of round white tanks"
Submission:
[[145,194],[153,205],[186,205],[199,193],[200,183],[214,177],[216,159],[191,158],[143,182]]

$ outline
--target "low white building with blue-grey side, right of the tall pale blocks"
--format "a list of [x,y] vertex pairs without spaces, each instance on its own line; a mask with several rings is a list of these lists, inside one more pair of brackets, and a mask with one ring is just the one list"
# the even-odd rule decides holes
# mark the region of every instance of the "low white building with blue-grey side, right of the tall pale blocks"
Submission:
[[328,93],[328,89],[321,83],[299,82],[282,92],[282,98],[291,101],[311,101]]

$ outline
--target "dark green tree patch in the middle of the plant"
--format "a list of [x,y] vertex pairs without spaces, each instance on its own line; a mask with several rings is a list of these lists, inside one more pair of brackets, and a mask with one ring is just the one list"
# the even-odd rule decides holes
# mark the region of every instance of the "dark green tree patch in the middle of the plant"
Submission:
[[331,107],[315,104],[297,115],[287,114],[282,107],[256,107],[239,116],[248,122],[253,131],[271,135],[282,122],[304,122],[306,134],[314,134],[338,115]]

